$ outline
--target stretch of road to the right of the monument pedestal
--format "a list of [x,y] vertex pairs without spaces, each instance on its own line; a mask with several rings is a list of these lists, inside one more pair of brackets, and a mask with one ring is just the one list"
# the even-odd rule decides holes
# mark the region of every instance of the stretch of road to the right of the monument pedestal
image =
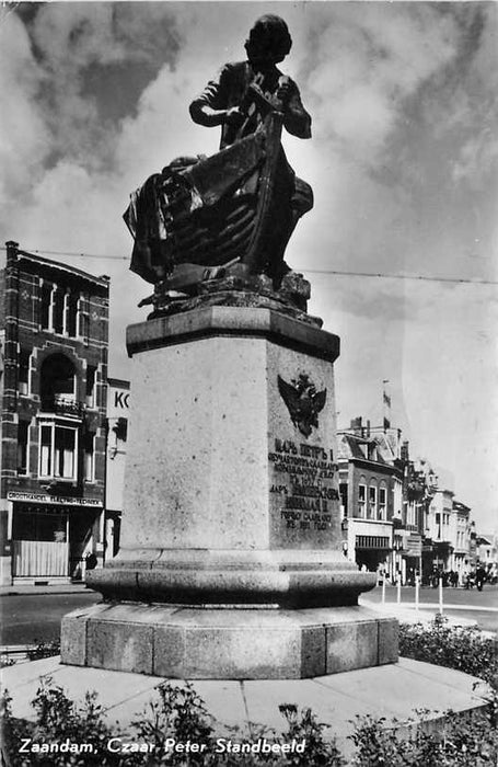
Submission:
[[[479,628],[498,633],[498,585],[485,585],[482,592],[478,592],[477,588],[470,588],[468,591],[465,588],[443,588],[442,595],[444,615],[470,618],[477,621]],[[378,586],[364,594],[362,599],[364,602],[381,602],[382,588]],[[386,586],[385,602],[396,603],[396,599],[397,588],[395,586]],[[419,602],[421,605],[432,604],[435,610],[438,611],[438,588],[420,588]],[[401,602],[406,607],[414,605],[415,588],[413,586],[404,586],[401,589]]]

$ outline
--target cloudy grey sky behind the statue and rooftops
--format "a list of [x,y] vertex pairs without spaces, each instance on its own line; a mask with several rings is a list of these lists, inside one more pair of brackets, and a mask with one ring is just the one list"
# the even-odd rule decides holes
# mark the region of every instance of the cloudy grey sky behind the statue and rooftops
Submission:
[[[255,19],[279,13],[293,38],[281,68],[313,117],[311,140],[285,139],[315,193],[287,261],[312,283],[311,313],[341,337],[339,425],[360,414],[379,424],[389,379],[393,422],[412,456],[440,470],[480,529],[491,530],[497,9],[332,1],[3,5],[2,242],[14,239],[111,275],[109,373],[128,377],[125,325],[146,318],[137,304],[150,293],[128,272],[131,240],[121,215],[129,193],[177,154],[216,151],[218,129],[194,125],[187,105],[221,64],[243,58]],[[407,278],[419,276],[439,281]]]

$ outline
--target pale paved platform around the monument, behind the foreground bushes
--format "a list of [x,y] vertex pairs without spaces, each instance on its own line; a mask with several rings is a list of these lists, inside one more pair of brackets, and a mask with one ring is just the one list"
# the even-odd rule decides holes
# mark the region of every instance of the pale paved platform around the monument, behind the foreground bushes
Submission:
[[[155,699],[155,688],[165,680],[147,674],[68,666],[58,657],[18,664],[2,669],[14,717],[34,720],[31,701],[42,676],[49,676],[72,699],[81,700],[85,691],[96,690],[108,724],[117,722],[116,730],[130,734],[130,722]],[[385,717],[386,726],[395,718],[397,728],[409,728],[414,722],[435,728],[450,709],[452,716],[462,717],[485,708],[488,692],[473,676],[407,659],[310,679],[196,679],[193,684],[220,737],[255,740],[260,725],[281,733],[287,728],[278,707],[294,703],[299,709],[311,708],[326,724],[325,737],[336,736],[346,754],[354,748],[348,735],[357,716]],[[421,714],[420,710],[427,712]]]

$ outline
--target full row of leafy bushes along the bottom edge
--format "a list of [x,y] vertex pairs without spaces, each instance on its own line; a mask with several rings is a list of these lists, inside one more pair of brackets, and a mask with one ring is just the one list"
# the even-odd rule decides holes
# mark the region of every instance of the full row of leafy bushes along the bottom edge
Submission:
[[[232,767],[271,765],[271,767],[495,767],[498,763],[498,732],[493,708],[462,718],[448,716],[438,721],[433,732],[415,723],[409,737],[395,729],[396,722],[372,717],[357,718],[350,736],[356,752],[347,762],[334,739],[324,737],[325,724],[304,709],[282,705],[280,711],[287,730],[277,734],[260,728],[251,740],[235,730],[227,740],[239,744],[239,751],[219,752],[211,718],[192,685],[165,683],[159,697],[132,722],[127,733],[112,728],[104,720],[95,694],[86,694],[82,703],[70,700],[63,690],[45,679],[33,701],[36,722],[28,724],[13,719],[11,701],[4,694],[2,749],[3,763],[11,767],[50,765],[54,767],[91,766],[142,767]],[[403,723],[406,729],[406,723]],[[169,739],[177,743],[205,744],[198,753],[178,753],[169,747]],[[305,741],[302,753],[251,753],[258,739],[269,744],[292,744]],[[43,744],[76,744],[76,751],[44,752]],[[135,751],[120,752],[121,744],[134,744]],[[244,744],[247,751],[244,752]],[[84,751],[81,746],[84,745]]]

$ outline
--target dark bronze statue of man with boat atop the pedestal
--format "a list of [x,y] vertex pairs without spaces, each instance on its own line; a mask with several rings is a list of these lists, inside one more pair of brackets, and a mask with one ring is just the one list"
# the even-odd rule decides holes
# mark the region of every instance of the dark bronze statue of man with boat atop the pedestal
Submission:
[[124,216],[135,239],[130,268],[154,285],[143,301],[154,316],[206,302],[264,305],[256,294],[320,323],[305,314],[309,283],[283,259],[313,207],[280,142],[282,128],[311,137],[298,85],[277,67],[291,45],[282,19],[258,19],[246,60],[225,64],[189,106],[199,125],[221,127],[220,151],[176,158],[131,195]]

